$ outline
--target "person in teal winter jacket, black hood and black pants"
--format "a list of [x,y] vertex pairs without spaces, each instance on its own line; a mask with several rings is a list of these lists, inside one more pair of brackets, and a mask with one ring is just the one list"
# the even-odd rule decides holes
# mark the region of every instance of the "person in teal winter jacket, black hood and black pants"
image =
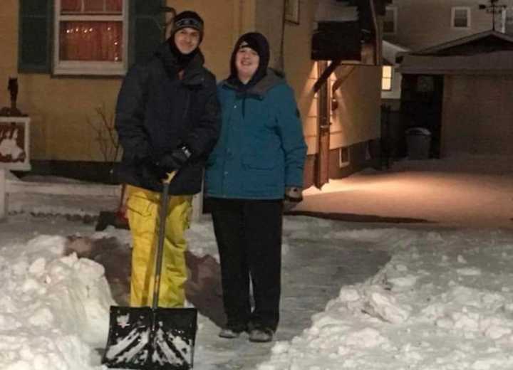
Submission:
[[252,342],[278,327],[284,201],[301,201],[306,159],[294,91],[268,65],[266,38],[242,35],[218,85],[222,129],[205,174],[227,316],[219,336]]

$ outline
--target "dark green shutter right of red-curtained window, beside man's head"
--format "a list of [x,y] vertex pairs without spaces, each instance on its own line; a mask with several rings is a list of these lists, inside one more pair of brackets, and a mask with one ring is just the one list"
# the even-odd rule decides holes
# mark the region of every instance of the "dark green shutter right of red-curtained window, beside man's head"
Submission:
[[148,60],[164,41],[162,0],[130,1],[130,64]]

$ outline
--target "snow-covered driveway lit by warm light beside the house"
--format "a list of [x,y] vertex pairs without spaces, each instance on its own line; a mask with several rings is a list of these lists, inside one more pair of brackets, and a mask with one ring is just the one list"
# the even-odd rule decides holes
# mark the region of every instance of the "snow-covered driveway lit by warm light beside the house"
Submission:
[[443,227],[513,229],[513,157],[454,156],[366,169],[310,188],[298,211],[420,218]]

